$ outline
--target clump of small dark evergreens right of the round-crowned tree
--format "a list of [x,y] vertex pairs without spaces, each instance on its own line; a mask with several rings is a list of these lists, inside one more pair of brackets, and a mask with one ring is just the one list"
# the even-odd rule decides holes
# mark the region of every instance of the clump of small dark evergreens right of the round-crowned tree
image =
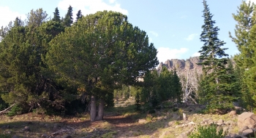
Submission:
[[159,75],[157,70],[152,70],[144,76],[141,101],[149,110],[164,107],[167,101],[179,102],[181,97],[182,87],[176,70],[168,71],[163,67]]

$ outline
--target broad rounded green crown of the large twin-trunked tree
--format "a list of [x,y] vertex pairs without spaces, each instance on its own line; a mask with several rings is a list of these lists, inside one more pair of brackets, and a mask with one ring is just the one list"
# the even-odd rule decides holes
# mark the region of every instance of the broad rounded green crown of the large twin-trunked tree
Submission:
[[110,89],[135,84],[158,65],[156,56],[145,31],[128,23],[126,15],[104,11],[83,17],[56,36],[46,59],[60,76],[102,99]]

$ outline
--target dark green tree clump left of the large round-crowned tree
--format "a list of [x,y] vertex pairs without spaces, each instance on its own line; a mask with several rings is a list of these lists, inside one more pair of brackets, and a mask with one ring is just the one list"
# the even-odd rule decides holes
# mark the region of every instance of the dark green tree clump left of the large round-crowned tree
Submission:
[[0,42],[1,98],[9,105],[18,104],[23,113],[36,108],[42,113],[61,113],[65,102],[78,97],[78,86],[57,76],[44,62],[48,43],[64,31],[61,23],[46,20],[42,9],[31,10],[28,24],[20,25],[22,21],[16,18]]

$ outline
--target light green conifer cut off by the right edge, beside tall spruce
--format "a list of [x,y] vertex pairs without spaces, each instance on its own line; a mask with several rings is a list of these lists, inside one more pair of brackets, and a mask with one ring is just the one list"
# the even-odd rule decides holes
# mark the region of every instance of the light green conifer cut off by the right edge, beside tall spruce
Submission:
[[231,36],[240,54],[236,54],[236,76],[240,78],[238,83],[241,89],[241,105],[247,110],[253,110],[256,106],[255,98],[255,4],[242,1],[237,13],[233,14],[236,20],[235,36]]

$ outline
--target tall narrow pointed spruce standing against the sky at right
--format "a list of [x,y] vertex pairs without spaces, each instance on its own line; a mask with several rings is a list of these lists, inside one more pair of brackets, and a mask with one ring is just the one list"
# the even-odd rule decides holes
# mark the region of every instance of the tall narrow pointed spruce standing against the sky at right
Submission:
[[200,41],[204,44],[201,47],[200,60],[203,62],[203,81],[201,82],[200,101],[207,104],[209,111],[223,110],[233,107],[233,89],[228,82],[230,75],[227,73],[227,57],[225,49],[222,46],[224,41],[218,38],[218,27],[214,27],[215,21],[212,20],[210,9],[203,0],[203,31],[200,35]]

